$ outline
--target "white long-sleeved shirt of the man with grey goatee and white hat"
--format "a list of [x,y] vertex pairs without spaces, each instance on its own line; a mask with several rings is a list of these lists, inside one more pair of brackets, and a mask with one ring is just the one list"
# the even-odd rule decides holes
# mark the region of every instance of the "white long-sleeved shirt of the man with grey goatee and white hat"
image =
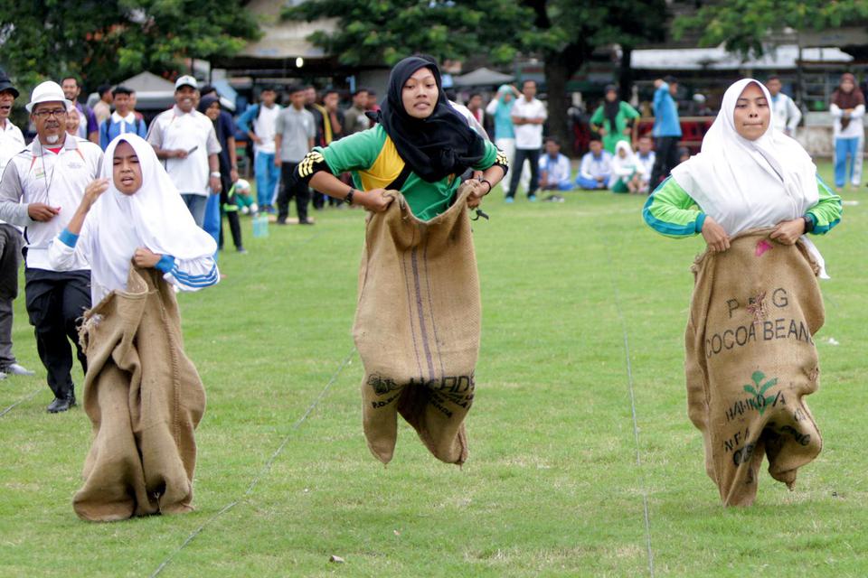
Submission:
[[[66,135],[58,154],[45,150],[38,138],[33,139],[6,165],[0,179],[0,219],[24,227],[28,267],[56,270],[49,262],[48,246],[66,228],[85,188],[99,176],[101,168],[99,145],[72,135]],[[34,221],[27,214],[27,205],[32,202],[60,207],[61,212],[51,220]],[[90,269],[90,265],[79,259],[70,268]]]

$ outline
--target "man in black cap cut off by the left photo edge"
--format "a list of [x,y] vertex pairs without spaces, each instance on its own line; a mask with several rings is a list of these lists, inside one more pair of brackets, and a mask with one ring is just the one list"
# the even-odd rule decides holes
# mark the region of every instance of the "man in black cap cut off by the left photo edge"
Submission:
[[[18,89],[0,70],[0,176],[6,163],[25,146],[21,129],[9,120],[15,98],[18,98]],[[18,365],[12,353],[12,302],[18,296],[18,267],[21,266],[23,243],[21,232],[0,220],[0,379],[10,373],[33,375],[33,371]]]

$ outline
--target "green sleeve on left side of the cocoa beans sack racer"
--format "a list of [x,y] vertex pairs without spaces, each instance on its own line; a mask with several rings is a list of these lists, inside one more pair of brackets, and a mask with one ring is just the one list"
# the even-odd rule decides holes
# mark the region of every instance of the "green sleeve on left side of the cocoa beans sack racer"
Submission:
[[684,238],[703,230],[705,213],[687,191],[669,177],[648,197],[642,218],[648,227],[665,237]]

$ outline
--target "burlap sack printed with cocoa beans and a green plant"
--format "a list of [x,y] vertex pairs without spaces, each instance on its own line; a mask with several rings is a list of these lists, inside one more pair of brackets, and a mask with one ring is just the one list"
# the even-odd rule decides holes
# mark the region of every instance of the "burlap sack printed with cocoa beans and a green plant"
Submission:
[[801,242],[755,229],[693,264],[684,337],[687,406],[703,432],[705,469],[726,506],[750,506],[763,456],[790,489],[822,440],[803,396],[817,388],[814,333],[824,309]]

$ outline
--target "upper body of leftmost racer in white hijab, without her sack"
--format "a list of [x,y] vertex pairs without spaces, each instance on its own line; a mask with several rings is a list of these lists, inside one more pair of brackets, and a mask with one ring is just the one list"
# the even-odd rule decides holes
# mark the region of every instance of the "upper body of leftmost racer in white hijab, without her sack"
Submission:
[[91,266],[96,305],[127,288],[131,262],[153,267],[184,291],[216,284],[214,239],[196,227],[154,148],[130,133],[109,144],[102,178],[91,182],[81,204],[49,247],[52,266],[75,266],[76,254]]

